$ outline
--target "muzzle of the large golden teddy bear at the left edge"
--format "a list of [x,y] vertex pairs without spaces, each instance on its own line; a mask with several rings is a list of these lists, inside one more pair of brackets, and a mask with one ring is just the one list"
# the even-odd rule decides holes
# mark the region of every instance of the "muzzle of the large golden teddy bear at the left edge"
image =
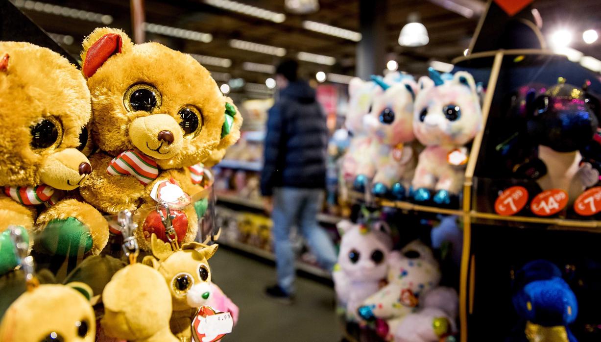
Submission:
[[50,154],[41,167],[42,183],[60,190],[73,190],[92,172],[90,160],[75,148]]

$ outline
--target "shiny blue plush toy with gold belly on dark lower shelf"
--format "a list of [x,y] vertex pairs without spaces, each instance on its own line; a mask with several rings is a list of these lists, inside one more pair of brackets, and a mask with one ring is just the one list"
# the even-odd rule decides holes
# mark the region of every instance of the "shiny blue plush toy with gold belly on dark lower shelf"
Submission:
[[576,320],[578,302],[557,266],[531,261],[516,273],[513,306],[520,323],[507,342],[578,342],[568,325]]

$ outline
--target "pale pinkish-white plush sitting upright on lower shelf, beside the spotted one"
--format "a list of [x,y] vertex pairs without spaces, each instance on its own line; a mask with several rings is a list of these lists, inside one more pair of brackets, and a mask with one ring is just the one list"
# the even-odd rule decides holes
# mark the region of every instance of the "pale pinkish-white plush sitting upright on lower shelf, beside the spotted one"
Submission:
[[357,321],[357,308],[382,286],[388,273],[392,239],[384,222],[337,224],[341,233],[338,264],[334,267],[334,289],[346,319]]

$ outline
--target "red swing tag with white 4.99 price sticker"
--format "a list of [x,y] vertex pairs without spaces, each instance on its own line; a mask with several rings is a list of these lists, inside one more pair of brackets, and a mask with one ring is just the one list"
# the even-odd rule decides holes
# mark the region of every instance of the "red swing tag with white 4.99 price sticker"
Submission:
[[230,334],[234,320],[230,313],[218,313],[212,307],[201,307],[192,321],[195,342],[214,342]]

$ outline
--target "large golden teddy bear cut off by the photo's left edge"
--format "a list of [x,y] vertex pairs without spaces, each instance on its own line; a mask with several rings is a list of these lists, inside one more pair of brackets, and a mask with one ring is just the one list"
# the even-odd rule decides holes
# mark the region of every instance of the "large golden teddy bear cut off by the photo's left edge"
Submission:
[[91,173],[78,150],[90,114],[85,80],[66,58],[30,43],[0,42],[0,232],[8,225],[33,230],[50,254],[98,254],[106,245],[102,215],[61,200]]

